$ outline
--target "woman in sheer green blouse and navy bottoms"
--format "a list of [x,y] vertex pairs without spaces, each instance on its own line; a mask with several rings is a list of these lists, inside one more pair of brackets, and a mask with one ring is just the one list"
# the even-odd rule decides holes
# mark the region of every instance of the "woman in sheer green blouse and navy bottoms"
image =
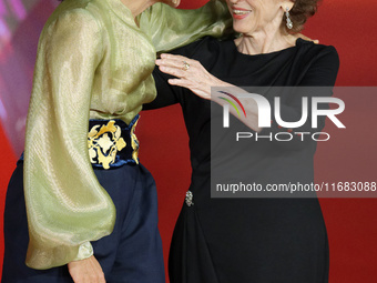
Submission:
[[156,95],[156,52],[220,36],[230,16],[215,0],[185,11],[155,2],[64,0],[45,23],[24,163],[7,194],[3,283],[164,282],[134,127]]

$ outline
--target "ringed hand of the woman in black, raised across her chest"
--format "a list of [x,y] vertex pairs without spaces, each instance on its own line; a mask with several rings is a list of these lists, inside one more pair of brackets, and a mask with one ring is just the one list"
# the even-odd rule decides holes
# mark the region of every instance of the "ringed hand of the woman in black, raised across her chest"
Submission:
[[161,54],[156,64],[164,73],[176,77],[167,82],[172,85],[190,89],[196,95],[211,100],[211,87],[230,87],[205,70],[201,62],[183,55]]

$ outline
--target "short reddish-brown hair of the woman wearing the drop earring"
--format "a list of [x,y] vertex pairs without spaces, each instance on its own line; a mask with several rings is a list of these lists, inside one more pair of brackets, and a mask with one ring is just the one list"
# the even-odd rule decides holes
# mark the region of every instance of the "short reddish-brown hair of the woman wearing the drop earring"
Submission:
[[289,11],[293,29],[286,28],[286,17],[283,17],[283,24],[287,32],[299,32],[304,29],[304,24],[308,18],[317,11],[319,0],[294,0],[294,6]]

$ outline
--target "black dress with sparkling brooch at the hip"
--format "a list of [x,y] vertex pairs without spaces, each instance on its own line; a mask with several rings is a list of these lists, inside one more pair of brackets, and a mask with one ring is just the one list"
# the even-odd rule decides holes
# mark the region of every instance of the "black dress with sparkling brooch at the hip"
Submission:
[[[206,38],[175,53],[198,60],[212,74],[235,85],[334,85],[339,67],[333,47],[302,39],[282,51],[246,55],[237,51],[233,40]],[[181,104],[190,137],[193,173],[188,190],[194,203],[183,204],[176,222],[170,253],[171,282],[328,282],[328,242],[318,200],[212,199],[210,109],[213,102],[186,89],[171,87],[167,78],[154,71],[159,94],[144,109]],[[289,108],[295,99],[282,99],[289,115],[289,111],[295,111]],[[231,124],[237,121],[232,118]],[[243,127],[241,122],[238,127]],[[230,164],[232,156],[246,156],[249,181],[256,183],[313,182],[315,142],[284,144],[259,146],[244,142],[224,149],[221,156],[216,155],[216,162]]]

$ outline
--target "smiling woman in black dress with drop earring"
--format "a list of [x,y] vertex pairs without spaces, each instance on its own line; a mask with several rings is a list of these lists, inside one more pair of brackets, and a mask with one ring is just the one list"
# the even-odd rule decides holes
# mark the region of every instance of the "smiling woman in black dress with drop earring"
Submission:
[[[218,104],[226,103],[211,97],[213,85],[333,87],[339,64],[336,50],[295,36],[316,3],[227,0],[240,38],[206,38],[156,61],[162,71],[154,72],[159,94],[144,109],[182,105],[193,171],[171,245],[172,283],[328,282],[327,234],[316,198],[212,199],[210,190],[214,158],[232,172],[234,156],[244,156],[249,182],[314,181],[316,142],[292,141],[284,146],[241,142],[225,148],[230,143],[223,141],[234,139],[240,129],[261,131],[255,104],[245,105],[248,119],[231,115],[231,128],[221,138],[211,137],[210,110],[217,105],[222,113]],[[300,99],[283,97],[282,115],[296,118],[298,113],[299,120],[300,108],[295,105],[300,105]],[[323,127],[320,120],[316,132]],[[273,122],[269,130],[279,128]],[[211,138],[222,154],[211,152]]]

